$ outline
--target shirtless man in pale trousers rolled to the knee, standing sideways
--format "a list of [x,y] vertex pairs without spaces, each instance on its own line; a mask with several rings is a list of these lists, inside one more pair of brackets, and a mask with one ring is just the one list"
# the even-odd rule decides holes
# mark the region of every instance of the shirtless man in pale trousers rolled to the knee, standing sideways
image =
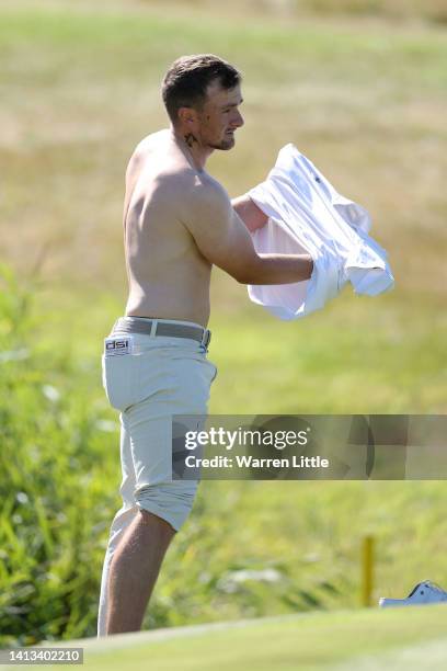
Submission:
[[213,55],[168,70],[169,129],[145,138],[126,173],[124,238],[129,297],[106,339],[103,382],[121,411],[123,508],[104,560],[99,636],[138,630],[169,544],[197,482],[172,480],[172,414],[206,414],[216,375],[207,360],[213,264],[242,284],[287,284],[312,273],[309,255],[257,254],[249,231],[267,217],[230,201],[205,171],[242,126],[240,73]]

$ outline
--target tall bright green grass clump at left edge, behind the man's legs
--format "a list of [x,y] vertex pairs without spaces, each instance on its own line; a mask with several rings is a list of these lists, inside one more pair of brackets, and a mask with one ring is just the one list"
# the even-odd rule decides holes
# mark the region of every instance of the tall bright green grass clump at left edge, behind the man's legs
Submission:
[[[32,644],[91,629],[98,535],[113,492],[100,479],[106,421],[77,389],[64,349],[42,348],[30,288],[5,266],[0,291],[0,641]],[[101,424],[103,422],[103,424]]]

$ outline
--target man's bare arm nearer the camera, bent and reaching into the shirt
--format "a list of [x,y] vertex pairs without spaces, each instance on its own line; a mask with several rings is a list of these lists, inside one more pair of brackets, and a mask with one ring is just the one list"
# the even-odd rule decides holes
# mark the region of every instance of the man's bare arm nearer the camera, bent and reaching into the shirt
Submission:
[[190,194],[187,220],[200,253],[241,284],[289,284],[309,280],[309,254],[257,254],[250,232],[217,183],[196,184]]

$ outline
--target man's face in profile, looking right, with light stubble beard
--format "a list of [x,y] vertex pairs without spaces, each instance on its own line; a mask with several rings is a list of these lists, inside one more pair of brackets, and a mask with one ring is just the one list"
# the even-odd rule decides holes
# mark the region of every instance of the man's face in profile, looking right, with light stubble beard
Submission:
[[234,146],[234,132],[243,125],[239,112],[241,103],[239,84],[233,89],[222,89],[218,81],[208,86],[206,102],[197,112],[202,145],[213,149],[231,149]]

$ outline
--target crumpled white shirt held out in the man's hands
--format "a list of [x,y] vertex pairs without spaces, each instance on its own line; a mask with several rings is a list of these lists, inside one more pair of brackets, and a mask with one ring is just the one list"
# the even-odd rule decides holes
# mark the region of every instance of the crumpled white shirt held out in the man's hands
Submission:
[[368,212],[339,194],[324,175],[289,144],[265,182],[248,195],[268,216],[252,232],[264,253],[309,253],[313,272],[293,284],[249,285],[253,303],[279,319],[321,309],[347,282],[356,294],[377,296],[394,285],[387,252],[368,236]]

